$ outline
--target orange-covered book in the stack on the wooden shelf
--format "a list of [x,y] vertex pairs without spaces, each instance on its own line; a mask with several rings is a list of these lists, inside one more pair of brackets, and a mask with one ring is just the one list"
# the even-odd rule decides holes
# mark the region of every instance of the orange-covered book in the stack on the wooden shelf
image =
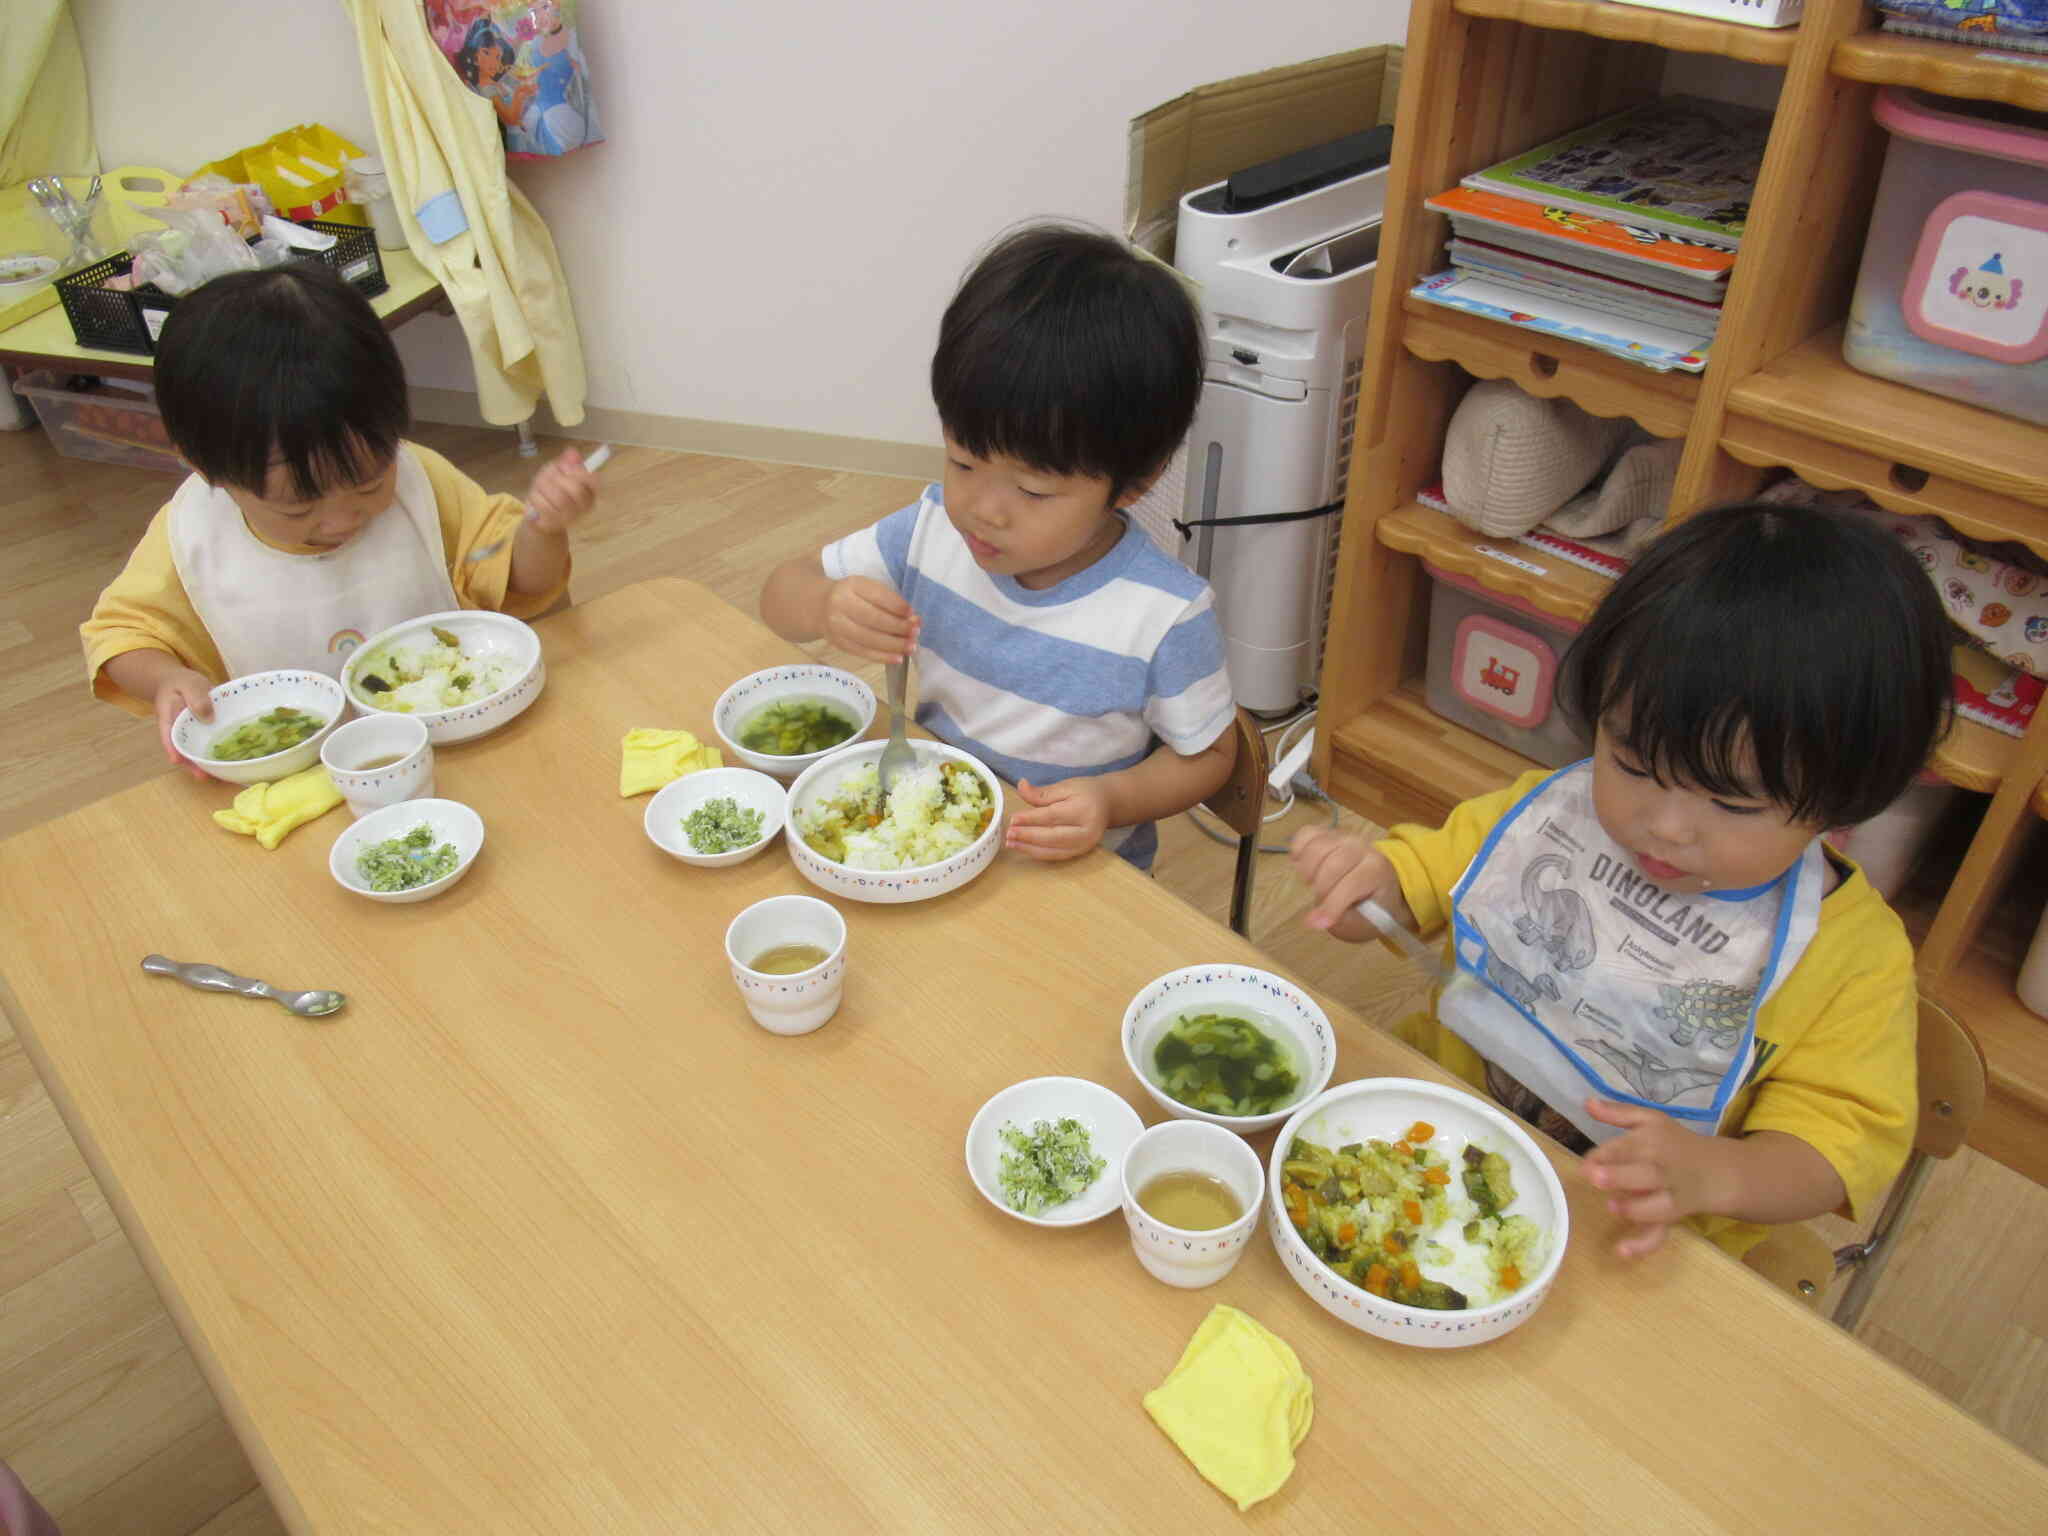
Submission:
[[1489,246],[1520,250],[1589,272],[1718,301],[1735,270],[1735,252],[1692,236],[1673,236],[1645,223],[1595,219],[1520,197],[1452,186],[1432,197],[1430,209],[1450,217],[1452,233]]

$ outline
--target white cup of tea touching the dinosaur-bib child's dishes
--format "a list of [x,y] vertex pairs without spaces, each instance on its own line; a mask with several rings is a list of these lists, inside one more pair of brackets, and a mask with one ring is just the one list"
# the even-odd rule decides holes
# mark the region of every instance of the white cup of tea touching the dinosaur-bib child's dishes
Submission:
[[1235,1130],[1165,1120],[1124,1153],[1124,1225],[1153,1278],[1198,1290],[1243,1257],[1266,1200],[1260,1155]]

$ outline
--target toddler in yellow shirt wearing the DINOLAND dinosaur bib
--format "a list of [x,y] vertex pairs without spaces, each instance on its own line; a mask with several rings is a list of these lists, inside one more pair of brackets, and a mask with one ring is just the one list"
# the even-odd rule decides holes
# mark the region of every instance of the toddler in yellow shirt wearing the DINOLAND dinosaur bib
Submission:
[[1657,539],[1565,657],[1593,756],[1376,844],[1294,840],[1307,922],[1378,901],[1456,961],[1403,1038],[1585,1151],[1624,1255],[1692,1221],[1864,1217],[1915,1116],[1913,946],[1821,834],[1882,811],[1950,709],[1948,621],[1876,524],[1792,506]]

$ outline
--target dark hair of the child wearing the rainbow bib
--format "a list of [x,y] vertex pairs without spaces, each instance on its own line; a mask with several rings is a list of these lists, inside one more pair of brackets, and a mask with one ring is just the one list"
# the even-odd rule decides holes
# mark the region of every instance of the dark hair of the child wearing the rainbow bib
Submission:
[[410,412],[397,348],[369,299],[326,266],[229,272],[164,319],[156,399],[178,453],[215,485],[295,500],[377,479]]

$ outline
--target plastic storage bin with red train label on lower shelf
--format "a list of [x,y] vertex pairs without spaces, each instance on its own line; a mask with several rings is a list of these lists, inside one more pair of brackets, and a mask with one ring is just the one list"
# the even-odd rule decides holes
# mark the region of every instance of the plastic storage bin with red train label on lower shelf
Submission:
[[1591,739],[1552,698],[1556,664],[1579,627],[1427,561],[1423,569],[1432,582],[1430,709],[1548,768],[1591,754]]

